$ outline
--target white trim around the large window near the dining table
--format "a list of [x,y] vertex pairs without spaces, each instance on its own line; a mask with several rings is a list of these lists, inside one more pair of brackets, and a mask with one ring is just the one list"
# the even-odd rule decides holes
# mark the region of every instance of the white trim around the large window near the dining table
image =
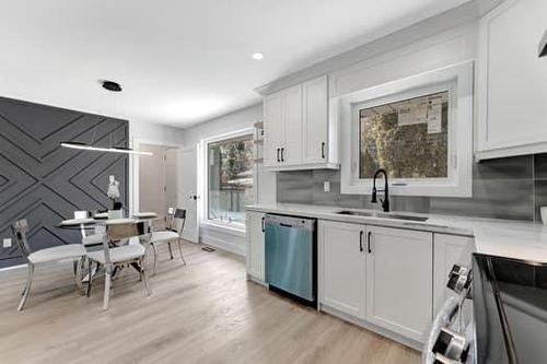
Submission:
[[[209,144],[223,141],[223,140],[229,140],[237,137],[244,137],[244,136],[251,136],[253,139],[255,138],[255,129],[254,128],[244,128],[235,131],[230,131],[225,132],[222,134],[218,134],[214,137],[209,137],[205,138],[200,142],[200,149],[201,149],[201,155],[203,155],[202,163],[201,163],[201,171],[203,175],[202,179],[202,188],[203,188],[203,198],[201,199],[201,211],[202,214],[200,216],[200,223],[203,225],[209,225],[209,226],[214,226],[219,228],[228,228],[231,231],[235,232],[245,232],[245,223],[229,223],[229,222],[222,222],[218,220],[211,220],[209,219]],[[256,145],[254,148],[254,153],[256,155]],[[255,190],[254,193],[254,203],[257,201],[257,166],[256,164],[253,165],[253,179],[254,179],[254,185],[253,189]]]

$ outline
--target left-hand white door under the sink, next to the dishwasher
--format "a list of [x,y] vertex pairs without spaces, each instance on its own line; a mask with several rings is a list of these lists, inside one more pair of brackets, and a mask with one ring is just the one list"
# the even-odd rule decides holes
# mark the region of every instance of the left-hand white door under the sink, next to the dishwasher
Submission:
[[319,303],[364,318],[363,225],[319,221]]

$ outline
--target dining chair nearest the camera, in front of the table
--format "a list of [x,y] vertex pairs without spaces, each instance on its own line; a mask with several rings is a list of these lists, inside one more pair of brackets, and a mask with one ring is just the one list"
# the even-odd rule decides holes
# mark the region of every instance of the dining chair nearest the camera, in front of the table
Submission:
[[[120,223],[120,224],[106,224],[105,234],[102,236],[103,249],[96,251],[89,251],[89,283],[88,283],[88,297],[91,296],[91,286],[93,282],[93,273],[91,271],[92,263],[96,262],[104,267],[105,270],[105,285],[103,297],[103,309],[108,309],[110,298],[112,275],[115,269],[120,269],[126,266],[133,267],[139,272],[139,278],[144,283],[147,294],[150,295],[150,286],[148,283],[147,272],[142,260],[144,258],[146,248],[140,244],[126,244],[116,246],[115,244],[124,240],[139,237],[143,233],[142,223]],[[83,245],[88,246],[91,240],[97,239],[96,235],[83,238]]]

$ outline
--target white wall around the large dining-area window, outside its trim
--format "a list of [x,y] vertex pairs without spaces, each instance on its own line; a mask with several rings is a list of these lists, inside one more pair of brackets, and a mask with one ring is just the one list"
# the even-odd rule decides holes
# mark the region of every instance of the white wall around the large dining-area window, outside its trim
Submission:
[[[210,121],[199,124],[195,127],[184,129],[182,143],[184,145],[196,145],[202,139],[252,128],[256,121],[261,120],[263,105],[253,105]],[[257,189],[256,196],[258,203],[276,201],[275,173],[265,172],[259,165],[255,186]],[[214,245],[238,255],[245,255],[244,232],[203,224],[200,226],[199,235],[202,243]]]

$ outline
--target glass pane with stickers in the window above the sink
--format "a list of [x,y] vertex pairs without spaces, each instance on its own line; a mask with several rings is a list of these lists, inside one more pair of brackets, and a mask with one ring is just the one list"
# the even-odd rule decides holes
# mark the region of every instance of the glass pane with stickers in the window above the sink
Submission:
[[449,177],[449,92],[359,110],[359,178]]

